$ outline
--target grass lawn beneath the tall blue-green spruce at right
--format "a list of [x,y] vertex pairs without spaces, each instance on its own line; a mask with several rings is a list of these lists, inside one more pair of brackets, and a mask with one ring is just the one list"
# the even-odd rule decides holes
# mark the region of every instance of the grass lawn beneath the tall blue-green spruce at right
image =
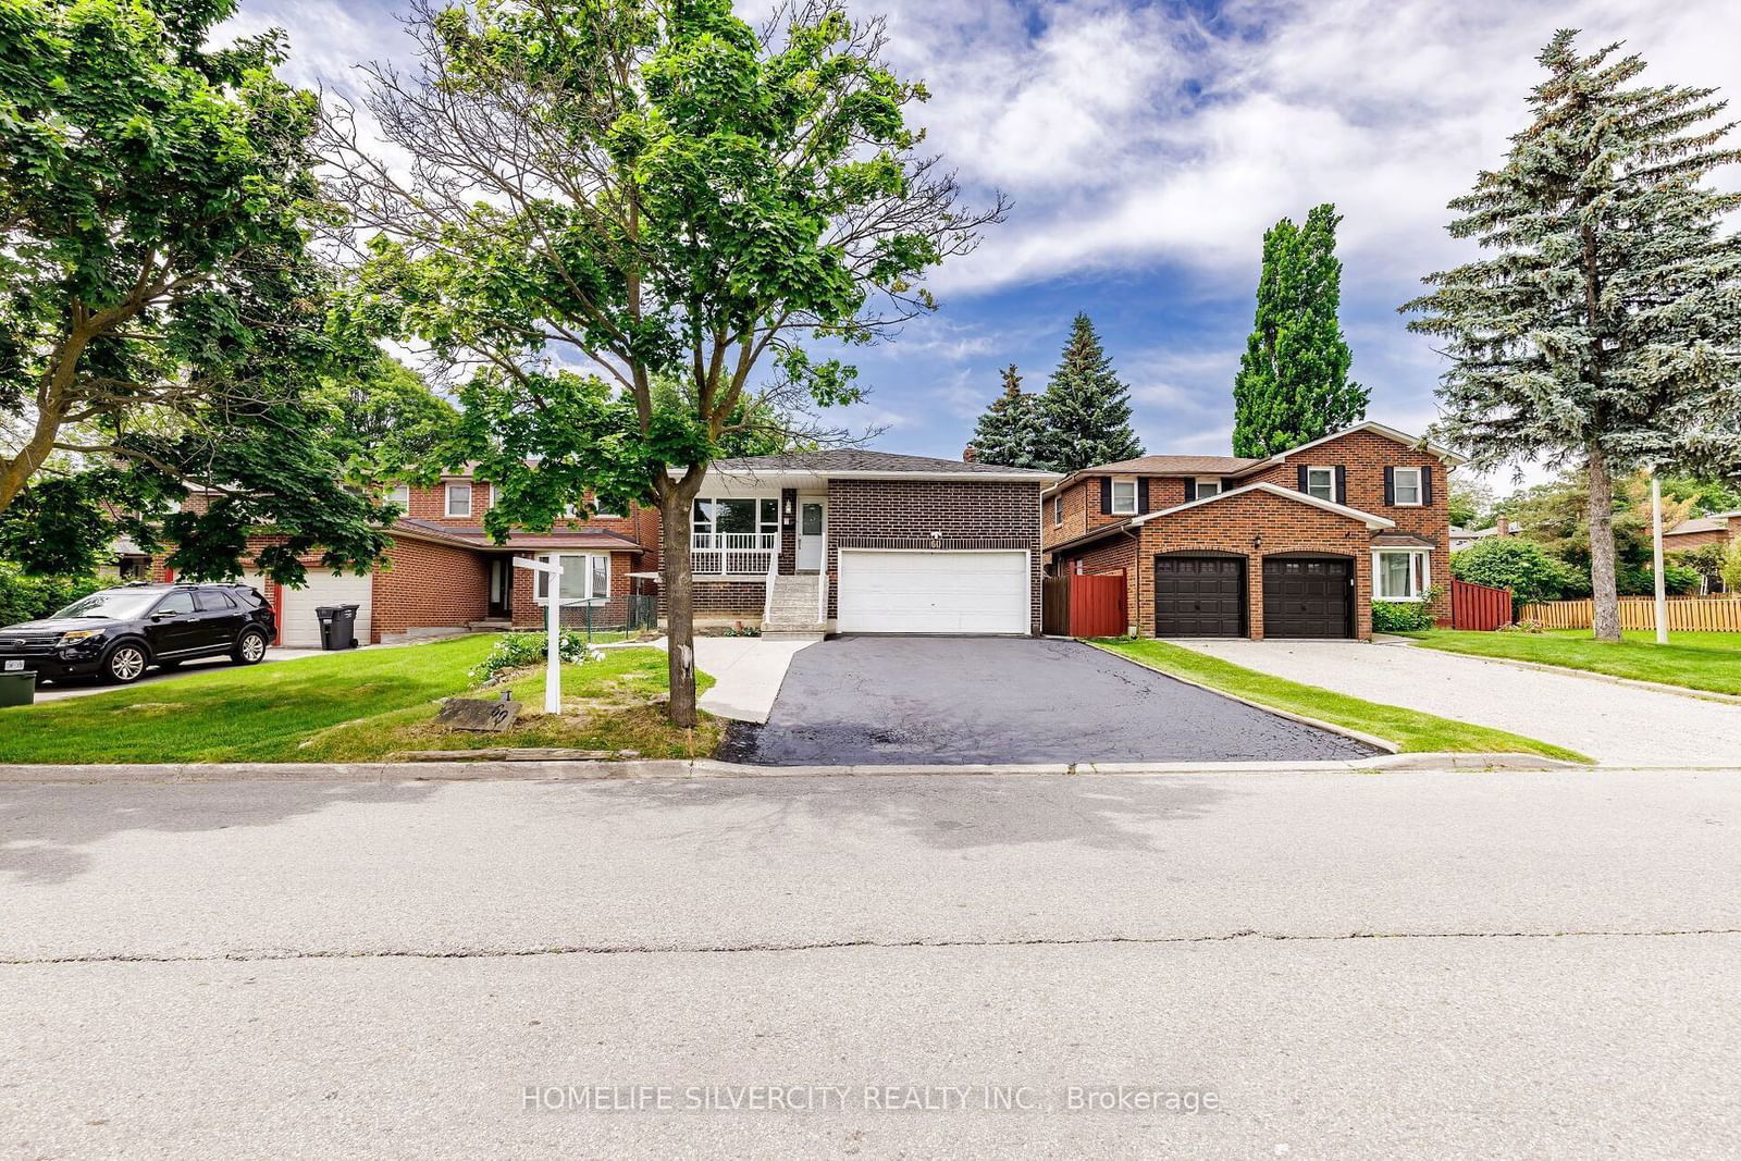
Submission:
[[1447,653],[1565,665],[1711,693],[1741,693],[1741,634],[1671,632],[1666,646],[1656,644],[1652,630],[1624,634],[1626,639],[1617,644],[1595,641],[1588,628],[1556,628],[1546,634],[1435,628],[1408,635],[1428,649]]

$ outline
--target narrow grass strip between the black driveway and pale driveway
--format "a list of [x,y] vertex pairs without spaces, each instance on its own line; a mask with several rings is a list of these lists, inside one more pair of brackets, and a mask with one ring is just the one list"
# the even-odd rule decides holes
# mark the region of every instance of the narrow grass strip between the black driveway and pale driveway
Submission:
[[1126,641],[1121,637],[1090,641],[1088,644],[1130,658],[1139,665],[1201,682],[1212,689],[1231,693],[1276,710],[1314,717],[1321,722],[1348,726],[1375,738],[1396,743],[1403,754],[1476,752],[1476,754],[1543,754],[1572,762],[1590,759],[1576,750],[1536,742],[1502,729],[1471,726],[1468,722],[1435,717],[1398,705],[1379,705],[1316,686],[1302,686],[1259,674],[1257,670],[1205,656],[1165,641]]

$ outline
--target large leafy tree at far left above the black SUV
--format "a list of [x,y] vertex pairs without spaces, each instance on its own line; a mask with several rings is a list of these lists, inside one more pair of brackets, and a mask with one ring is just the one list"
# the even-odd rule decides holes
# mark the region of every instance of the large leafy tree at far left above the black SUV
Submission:
[[[0,3],[0,538],[28,567],[162,531],[183,573],[235,574],[272,526],[259,564],[298,581],[385,543],[305,399],[333,355],[317,101],[275,33],[205,47],[232,10]],[[212,503],[174,512],[188,486]]]

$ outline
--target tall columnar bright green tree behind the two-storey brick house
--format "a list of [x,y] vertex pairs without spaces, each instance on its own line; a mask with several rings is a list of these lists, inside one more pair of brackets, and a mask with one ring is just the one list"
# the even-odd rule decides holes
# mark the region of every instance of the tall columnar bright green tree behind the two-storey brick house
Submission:
[[1348,378],[1354,357],[1337,319],[1341,221],[1335,205],[1323,204],[1304,226],[1283,218],[1264,232],[1257,319],[1233,383],[1236,456],[1273,456],[1367,414],[1370,393]]

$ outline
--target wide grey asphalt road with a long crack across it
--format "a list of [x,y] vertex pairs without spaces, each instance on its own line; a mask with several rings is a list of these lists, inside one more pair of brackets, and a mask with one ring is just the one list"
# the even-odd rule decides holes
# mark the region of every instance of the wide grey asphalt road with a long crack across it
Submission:
[[1732,1156],[1738,829],[1741,771],[3,787],[0,1151]]

